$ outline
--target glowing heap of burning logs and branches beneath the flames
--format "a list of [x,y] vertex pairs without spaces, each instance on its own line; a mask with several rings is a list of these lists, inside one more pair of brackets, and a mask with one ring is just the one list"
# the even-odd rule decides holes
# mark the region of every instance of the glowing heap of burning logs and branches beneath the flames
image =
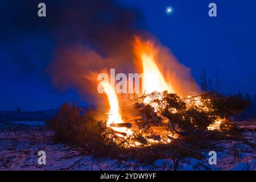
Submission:
[[[226,97],[217,97],[218,102],[213,97],[214,105],[211,97],[208,93],[187,98],[167,92],[143,94],[141,97],[135,95],[135,104],[131,106],[131,110],[138,113],[137,117],[127,118],[123,123],[113,123],[110,126],[125,127],[129,132],[113,131],[119,136],[122,135],[118,138],[121,143],[130,146],[170,143],[180,136],[207,134],[208,130],[231,131],[233,127],[228,125],[225,119],[220,119],[220,116],[227,112],[214,106],[220,105]],[[246,105],[243,101],[240,102],[239,105]],[[162,115],[164,110],[169,114]]]

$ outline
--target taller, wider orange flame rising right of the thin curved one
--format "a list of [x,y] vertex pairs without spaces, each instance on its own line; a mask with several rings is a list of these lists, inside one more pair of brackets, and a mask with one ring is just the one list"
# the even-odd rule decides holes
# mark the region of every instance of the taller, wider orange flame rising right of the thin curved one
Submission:
[[167,90],[181,97],[200,92],[199,86],[191,77],[190,69],[180,64],[167,47],[135,36],[134,55],[138,71],[144,73],[142,92]]

